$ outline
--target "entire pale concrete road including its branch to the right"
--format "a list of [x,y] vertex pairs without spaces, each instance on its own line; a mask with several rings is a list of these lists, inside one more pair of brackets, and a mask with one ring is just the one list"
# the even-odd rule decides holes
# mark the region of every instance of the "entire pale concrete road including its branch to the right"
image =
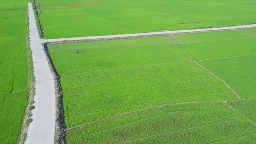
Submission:
[[32,3],[28,3],[29,9],[29,29],[30,29],[30,48],[32,50],[34,75],[36,77],[34,106],[32,110],[32,119],[30,123],[25,144],[53,144],[56,127],[56,92],[54,78],[51,73],[48,60],[44,52],[43,44],[48,43],[69,43],[74,41],[102,40],[102,39],[120,39],[141,36],[174,35],[181,33],[202,33],[210,31],[222,31],[233,29],[246,29],[256,27],[256,24],[243,26],[227,26],[209,29],[190,29],[174,30],[151,33],[135,33],[108,36],[87,36],[62,39],[40,39],[36,26],[36,19]]

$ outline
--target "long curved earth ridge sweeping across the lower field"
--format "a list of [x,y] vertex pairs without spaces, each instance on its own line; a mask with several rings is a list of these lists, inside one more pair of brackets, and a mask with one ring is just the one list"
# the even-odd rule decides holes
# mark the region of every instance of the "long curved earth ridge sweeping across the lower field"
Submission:
[[[230,100],[230,101],[232,101],[232,100]],[[241,101],[241,100],[233,100],[233,101]],[[167,106],[171,106],[171,105],[184,105],[184,104],[196,104],[196,103],[207,103],[207,102],[225,102],[225,100],[218,100],[218,101],[215,101],[215,100],[187,101],[187,102],[178,102],[178,103],[169,103],[169,104],[163,104],[163,105],[155,105],[155,106],[151,106],[151,107],[147,107],[147,108],[141,108],[141,109],[136,109],[136,110],[133,110],[133,111],[123,112],[123,113],[116,114],[116,115],[110,115],[110,116],[107,116],[105,118],[96,119],[95,121],[85,122],[85,123],[67,128],[64,132],[70,131],[70,130],[75,129],[75,128],[81,128],[82,126],[85,126],[85,125],[90,125],[90,124],[94,124],[94,123],[97,123],[97,122],[100,122],[100,121],[109,120],[111,118],[116,118],[116,117],[120,117],[120,116],[123,116],[123,115],[136,113],[136,112],[139,112],[139,111],[146,111],[146,110],[150,110],[150,109],[154,109],[154,108],[163,108],[163,107],[167,107]]]

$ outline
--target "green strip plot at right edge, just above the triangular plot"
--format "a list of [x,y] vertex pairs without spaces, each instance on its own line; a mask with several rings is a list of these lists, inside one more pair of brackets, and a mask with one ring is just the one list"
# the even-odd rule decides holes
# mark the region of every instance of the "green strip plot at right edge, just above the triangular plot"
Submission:
[[256,38],[194,43],[180,47],[193,56],[195,60],[254,55],[256,52]]

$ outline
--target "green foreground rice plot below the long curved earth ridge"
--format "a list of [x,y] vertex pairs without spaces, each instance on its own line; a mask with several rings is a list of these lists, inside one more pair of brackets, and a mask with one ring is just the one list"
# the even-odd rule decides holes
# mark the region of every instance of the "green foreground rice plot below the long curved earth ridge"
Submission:
[[[255,132],[255,125],[224,103],[206,102],[154,108],[96,122],[67,132],[66,140],[67,144],[205,144]],[[253,138],[245,141],[254,142]]]

